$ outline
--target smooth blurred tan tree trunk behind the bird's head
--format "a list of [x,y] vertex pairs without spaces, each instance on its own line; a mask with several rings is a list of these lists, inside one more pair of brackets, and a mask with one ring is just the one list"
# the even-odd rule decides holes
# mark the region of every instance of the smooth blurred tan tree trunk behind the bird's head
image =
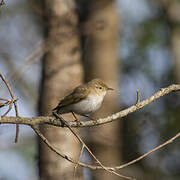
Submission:
[[[87,28],[88,27],[88,28]],[[85,80],[101,78],[117,90],[117,12],[114,1],[101,0],[89,2],[89,14],[85,31],[88,33],[85,47]],[[119,109],[117,91],[109,92],[96,117],[105,117]],[[88,141],[94,154],[105,165],[119,164],[121,161],[120,121],[89,129]],[[114,180],[105,171],[92,172],[93,179]]]

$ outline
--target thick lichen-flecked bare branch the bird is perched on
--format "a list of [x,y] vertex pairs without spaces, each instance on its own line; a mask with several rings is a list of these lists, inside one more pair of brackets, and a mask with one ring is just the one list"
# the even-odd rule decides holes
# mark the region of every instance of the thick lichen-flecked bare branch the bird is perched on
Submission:
[[[167,88],[162,88],[155,94],[153,94],[151,97],[149,97],[146,100],[143,100],[136,105],[133,105],[125,110],[122,110],[120,112],[117,112],[115,114],[112,114],[106,118],[99,118],[96,121],[89,120],[89,121],[81,121],[81,123],[77,123],[74,121],[68,122],[68,125],[70,127],[90,127],[90,126],[97,126],[102,125],[106,123],[110,123],[112,121],[118,120],[118,118],[122,118],[127,116],[128,114],[131,114],[148,104],[152,103],[153,101],[159,99],[160,97],[169,94],[173,91],[179,91],[180,85],[179,84],[173,84],[168,86]],[[53,115],[52,116],[39,116],[39,117],[33,117],[33,118],[26,118],[26,117],[2,117],[0,123],[2,124],[25,124],[25,125],[38,125],[38,124],[49,124],[53,126],[59,126],[63,127],[63,124],[61,121],[56,119]]]

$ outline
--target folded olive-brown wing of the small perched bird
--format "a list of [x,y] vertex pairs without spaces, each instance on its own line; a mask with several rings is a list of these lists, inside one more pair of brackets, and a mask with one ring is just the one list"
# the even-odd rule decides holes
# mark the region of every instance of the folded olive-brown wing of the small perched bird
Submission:
[[68,106],[70,104],[75,104],[84,99],[88,95],[87,89],[81,85],[74,89],[72,93],[65,96],[58,104],[56,108],[53,110],[57,110],[59,108],[62,108],[64,106]]

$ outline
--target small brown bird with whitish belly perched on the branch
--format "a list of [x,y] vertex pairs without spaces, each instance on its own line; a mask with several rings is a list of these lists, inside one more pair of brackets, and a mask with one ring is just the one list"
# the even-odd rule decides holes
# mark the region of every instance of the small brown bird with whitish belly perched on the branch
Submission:
[[89,117],[88,115],[101,107],[109,90],[114,89],[108,87],[101,79],[93,79],[79,85],[70,94],[62,98],[52,112],[58,115],[72,113],[76,120],[75,114]]

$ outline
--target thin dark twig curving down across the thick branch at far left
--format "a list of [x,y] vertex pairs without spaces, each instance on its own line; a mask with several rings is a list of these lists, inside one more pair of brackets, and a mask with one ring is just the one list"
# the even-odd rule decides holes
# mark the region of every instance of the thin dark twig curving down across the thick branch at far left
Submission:
[[[13,104],[14,104],[14,108],[15,108],[15,112],[16,112],[16,117],[19,117],[19,113],[18,113],[18,107],[17,107],[17,103],[16,101],[14,101],[16,98],[12,92],[11,86],[9,85],[9,83],[6,81],[4,75],[2,73],[0,73],[0,77],[2,79],[2,81],[5,83],[5,85],[8,88],[9,94],[11,95]],[[11,107],[8,109],[8,112],[11,110]],[[18,136],[19,136],[19,125],[16,124],[16,137],[15,137],[15,143],[17,143],[18,141]]]

